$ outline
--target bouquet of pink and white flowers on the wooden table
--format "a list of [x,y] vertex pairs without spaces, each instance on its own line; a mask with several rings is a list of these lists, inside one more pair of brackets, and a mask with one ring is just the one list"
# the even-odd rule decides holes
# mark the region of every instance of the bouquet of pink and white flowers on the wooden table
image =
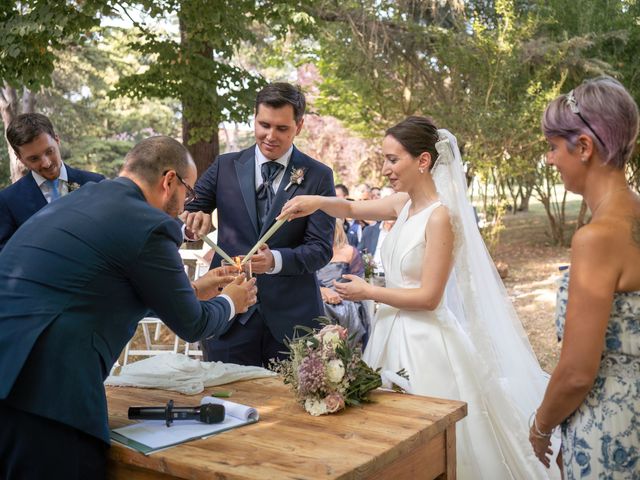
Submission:
[[[348,405],[368,402],[368,394],[382,385],[379,370],[362,360],[360,347],[350,347],[347,329],[326,317],[324,327],[287,340],[290,358],[279,360],[274,370],[291,385],[298,402],[311,415],[335,413]],[[398,372],[406,377],[404,371]]]

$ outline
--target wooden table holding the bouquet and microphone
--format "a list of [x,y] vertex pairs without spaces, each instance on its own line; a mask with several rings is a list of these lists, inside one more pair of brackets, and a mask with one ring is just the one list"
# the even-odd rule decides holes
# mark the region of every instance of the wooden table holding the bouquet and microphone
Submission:
[[[149,456],[113,443],[110,479],[455,479],[455,422],[464,402],[374,392],[375,403],[312,417],[279,379],[236,382],[231,400],[254,406],[258,423]],[[207,389],[205,393],[215,391]],[[108,387],[111,428],[132,405],[196,405],[201,396]]]

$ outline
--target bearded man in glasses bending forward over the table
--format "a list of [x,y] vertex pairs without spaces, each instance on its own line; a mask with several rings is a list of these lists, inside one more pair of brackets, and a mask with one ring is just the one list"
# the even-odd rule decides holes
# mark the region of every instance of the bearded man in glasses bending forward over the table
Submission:
[[190,283],[184,272],[175,216],[195,180],[186,148],[148,138],[120,177],[42,209],[0,252],[3,480],[105,478],[103,382],[138,321],[152,309],[196,341],[255,303],[253,279],[212,270]]

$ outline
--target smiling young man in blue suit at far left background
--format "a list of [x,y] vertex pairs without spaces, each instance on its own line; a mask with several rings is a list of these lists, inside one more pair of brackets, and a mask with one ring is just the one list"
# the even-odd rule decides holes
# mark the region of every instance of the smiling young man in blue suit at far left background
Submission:
[[65,165],[60,139],[41,113],[25,113],[7,128],[7,140],[30,172],[0,191],[0,250],[15,231],[42,207],[87,182],[104,177]]

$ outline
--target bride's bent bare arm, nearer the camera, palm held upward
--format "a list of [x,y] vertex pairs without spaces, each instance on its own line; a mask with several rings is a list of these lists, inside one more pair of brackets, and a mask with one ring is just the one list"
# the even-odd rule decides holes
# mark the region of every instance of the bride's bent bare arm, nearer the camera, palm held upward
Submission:
[[453,266],[453,229],[446,208],[431,214],[422,262],[421,287],[386,288],[370,285],[353,275],[349,283],[336,283],[336,291],[347,300],[370,299],[403,310],[434,310],[442,299]]

